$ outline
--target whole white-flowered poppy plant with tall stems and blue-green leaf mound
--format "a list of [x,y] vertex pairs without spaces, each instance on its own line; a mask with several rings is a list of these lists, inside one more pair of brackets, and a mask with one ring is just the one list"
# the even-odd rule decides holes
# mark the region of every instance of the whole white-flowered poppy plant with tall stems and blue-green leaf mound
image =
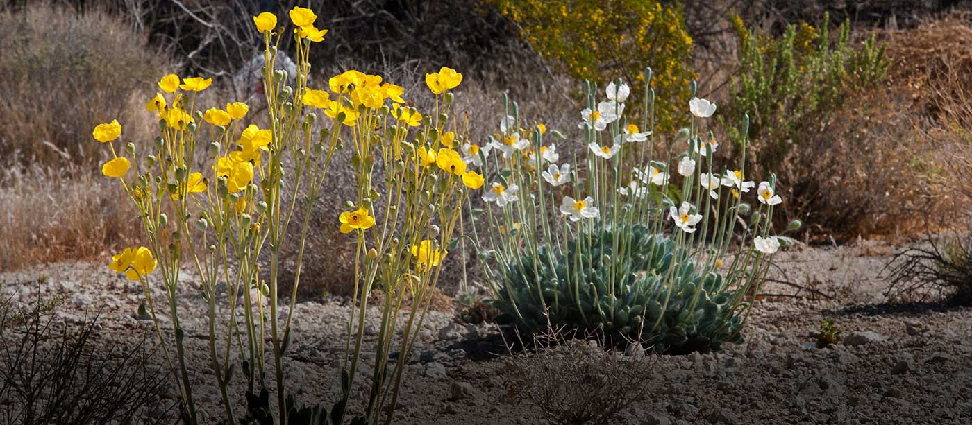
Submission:
[[[689,103],[692,125],[668,155],[655,156],[655,133],[640,129],[646,119],[639,127],[624,118],[629,90],[610,82],[600,103],[588,91],[579,124],[588,148],[573,167],[558,165],[556,146],[544,143],[560,133],[519,116],[515,103],[490,150],[478,149],[491,180],[483,200],[495,206],[473,211],[477,251],[503,313],[497,321],[665,352],[738,342],[746,296],[784,241],[771,233],[776,181],[755,190],[758,209],[744,202],[756,184],[745,180],[745,157],[739,168],[713,163],[716,146],[702,128],[715,105],[704,99]],[[730,245],[739,250],[730,254]]]

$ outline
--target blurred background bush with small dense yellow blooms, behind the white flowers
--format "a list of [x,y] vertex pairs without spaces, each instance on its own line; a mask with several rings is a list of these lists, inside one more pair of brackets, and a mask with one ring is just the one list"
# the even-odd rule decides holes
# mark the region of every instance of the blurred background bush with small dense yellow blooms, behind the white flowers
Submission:
[[658,127],[677,126],[693,78],[692,38],[680,7],[651,0],[490,1],[519,25],[524,40],[575,79],[603,85],[620,77],[642,93],[644,67],[651,68]]

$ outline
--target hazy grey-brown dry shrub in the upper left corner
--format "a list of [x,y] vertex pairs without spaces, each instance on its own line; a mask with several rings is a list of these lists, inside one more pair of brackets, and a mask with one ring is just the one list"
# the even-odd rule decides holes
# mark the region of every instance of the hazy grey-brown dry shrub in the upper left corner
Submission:
[[84,14],[44,2],[0,12],[0,155],[6,166],[62,168],[93,164],[103,151],[87,143],[105,116],[128,123],[147,142],[156,120],[140,100],[166,58],[117,17]]

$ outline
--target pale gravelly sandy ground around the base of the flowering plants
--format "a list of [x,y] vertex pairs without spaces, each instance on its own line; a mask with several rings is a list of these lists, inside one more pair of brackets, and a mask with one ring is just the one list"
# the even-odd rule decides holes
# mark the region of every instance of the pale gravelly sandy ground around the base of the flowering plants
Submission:
[[[641,356],[605,352],[604,365],[638,374],[640,395],[610,423],[621,424],[967,424],[972,423],[972,310],[935,305],[886,304],[885,263],[894,251],[883,245],[796,248],[782,252],[772,278],[812,287],[769,283],[752,311],[746,343],[710,354]],[[42,284],[29,283],[46,277]],[[196,394],[218,420],[222,410],[208,374],[204,303],[187,277],[180,292]],[[137,320],[140,290],[106,267],[52,264],[0,273],[0,294],[17,303],[63,294],[57,311],[64,323],[84,321],[101,308],[95,339],[133,345],[152,339],[151,322]],[[798,295],[793,297],[792,295]],[[350,307],[341,299],[306,301],[295,310],[294,345],[287,361],[288,386],[304,403],[335,400],[343,359],[343,324]],[[283,313],[287,312],[283,308]],[[371,313],[377,316],[377,311]],[[812,334],[822,319],[836,321],[844,343],[816,348]],[[365,342],[374,336],[365,337]],[[546,357],[511,356],[495,327],[453,324],[450,313],[431,311],[412,354],[410,374],[396,413],[405,424],[560,423],[544,415],[510,376]],[[164,362],[160,357],[157,365]],[[364,357],[364,361],[372,358]],[[605,366],[608,368],[609,366]],[[608,374],[608,372],[606,372]],[[271,376],[268,374],[268,376]],[[530,390],[556,386],[557,376]],[[361,387],[361,385],[359,385]],[[563,400],[595,399],[591,388],[559,388]],[[632,388],[603,388],[623,395]],[[360,391],[364,391],[361,389]],[[242,391],[236,391],[241,394]],[[173,389],[161,395],[171,405]],[[588,397],[589,396],[589,397]],[[242,400],[240,400],[242,403]],[[147,413],[165,414],[162,409]]]

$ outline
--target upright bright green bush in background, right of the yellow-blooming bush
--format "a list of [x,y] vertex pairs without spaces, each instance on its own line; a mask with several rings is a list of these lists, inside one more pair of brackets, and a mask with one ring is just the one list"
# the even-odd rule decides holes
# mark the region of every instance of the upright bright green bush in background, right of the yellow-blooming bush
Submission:
[[[740,38],[740,66],[731,116],[752,117],[751,147],[759,151],[760,171],[780,164],[802,138],[818,129],[826,115],[839,108],[857,88],[885,78],[885,47],[874,35],[861,49],[852,49],[851,22],[845,21],[831,41],[829,16],[817,29],[807,23],[789,25],[781,37],[747,29],[735,16]],[[738,150],[742,135],[730,132]]]

